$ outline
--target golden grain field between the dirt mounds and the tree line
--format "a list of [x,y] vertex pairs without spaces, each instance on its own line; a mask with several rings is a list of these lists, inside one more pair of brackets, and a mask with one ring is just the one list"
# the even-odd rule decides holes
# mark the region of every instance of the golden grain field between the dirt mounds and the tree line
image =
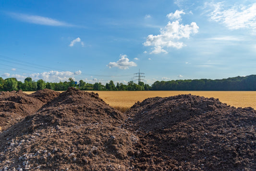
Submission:
[[[60,91],[63,92],[63,91]],[[92,91],[88,91],[92,92]],[[107,104],[125,111],[137,101],[149,97],[168,97],[181,94],[192,94],[204,97],[219,98],[219,101],[234,107],[253,107],[256,109],[256,91],[93,91],[99,94]],[[24,92],[31,94],[33,92]]]

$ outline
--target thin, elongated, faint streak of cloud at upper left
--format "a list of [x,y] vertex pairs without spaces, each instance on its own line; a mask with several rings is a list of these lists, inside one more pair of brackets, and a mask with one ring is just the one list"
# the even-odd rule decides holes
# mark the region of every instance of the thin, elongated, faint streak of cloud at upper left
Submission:
[[15,12],[9,12],[8,13],[11,17],[34,24],[40,24],[40,25],[49,25],[49,26],[73,26],[72,24],[68,24],[66,22],[58,21],[55,19],[42,17],[38,15],[27,15],[22,13],[15,13]]

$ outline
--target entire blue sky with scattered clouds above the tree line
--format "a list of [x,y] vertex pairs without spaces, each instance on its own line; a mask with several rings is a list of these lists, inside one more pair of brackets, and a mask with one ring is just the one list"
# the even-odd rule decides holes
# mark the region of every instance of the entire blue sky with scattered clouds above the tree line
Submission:
[[0,77],[146,84],[256,74],[255,0],[1,0]]

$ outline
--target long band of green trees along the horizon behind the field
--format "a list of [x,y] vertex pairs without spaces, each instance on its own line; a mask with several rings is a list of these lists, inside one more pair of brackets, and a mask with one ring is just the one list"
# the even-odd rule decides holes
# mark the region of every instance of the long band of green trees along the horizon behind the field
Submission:
[[200,91],[256,91],[256,75],[237,76],[227,79],[195,79],[195,80],[171,80],[156,81],[152,86],[139,82],[138,84],[129,81],[127,85],[122,83],[114,84],[110,81],[106,85],[101,83],[85,83],[80,80],[75,84],[72,78],[69,81],[50,83],[40,79],[33,81],[31,77],[25,78],[24,82],[16,78],[0,77],[0,91],[37,91],[44,88],[65,91],[68,87],[76,87],[80,90],[106,90],[106,91],[141,91],[141,90],[200,90]]

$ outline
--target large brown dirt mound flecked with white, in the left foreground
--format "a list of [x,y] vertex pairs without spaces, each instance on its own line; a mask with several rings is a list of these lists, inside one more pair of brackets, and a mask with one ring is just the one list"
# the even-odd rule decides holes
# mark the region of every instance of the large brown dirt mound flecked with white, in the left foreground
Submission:
[[[127,170],[138,138],[98,94],[69,88],[0,134],[7,170]],[[132,169],[132,168],[131,168]]]

